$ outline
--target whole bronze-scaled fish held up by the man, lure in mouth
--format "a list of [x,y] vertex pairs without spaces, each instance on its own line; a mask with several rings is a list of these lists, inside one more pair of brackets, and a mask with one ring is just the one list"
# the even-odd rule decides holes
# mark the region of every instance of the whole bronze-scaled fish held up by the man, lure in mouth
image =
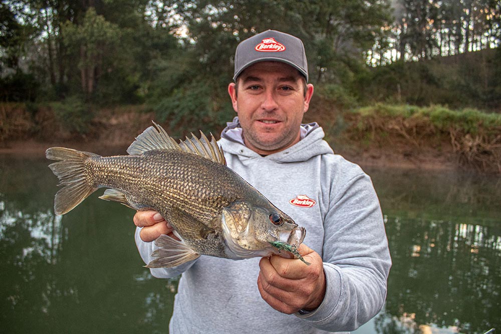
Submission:
[[[286,213],[226,165],[212,134],[176,142],[158,124],[142,132],[128,155],[100,156],[64,147],[46,151],[63,186],[54,212],[64,215],[99,188],[99,198],[158,211],[176,238],[162,234],[146,267],[174,267],[201,255],[233,260],[278,254],[302,259],[306,236]],[[304,259],[302,259],[304,261]],[[306,261],[304,261],[306,263]]]

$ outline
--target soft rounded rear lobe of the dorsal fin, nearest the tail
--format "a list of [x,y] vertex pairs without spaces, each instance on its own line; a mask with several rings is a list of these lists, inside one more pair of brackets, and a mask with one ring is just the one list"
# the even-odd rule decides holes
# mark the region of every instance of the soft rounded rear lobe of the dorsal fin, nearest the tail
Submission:
[[179,144],[158,124],[148,127],[136,140],[130,144],[127,153],[130,155],[141,155],[153,150],[181,150]]

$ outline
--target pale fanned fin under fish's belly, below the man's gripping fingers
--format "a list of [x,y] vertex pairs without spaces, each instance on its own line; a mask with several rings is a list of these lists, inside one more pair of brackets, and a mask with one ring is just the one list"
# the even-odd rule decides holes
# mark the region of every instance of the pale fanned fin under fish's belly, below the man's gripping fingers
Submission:
[[200,254],[191,249],[183,241],[162,234],[155,240],[159,248],[151,253],[155,257],[145,267],[147,268],[171,268],[180,264],[196,260]]

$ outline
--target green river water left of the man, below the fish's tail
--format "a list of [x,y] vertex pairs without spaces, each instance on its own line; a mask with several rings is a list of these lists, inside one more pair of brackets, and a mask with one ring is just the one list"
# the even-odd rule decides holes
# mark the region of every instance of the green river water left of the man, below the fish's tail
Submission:
[[55,184],[44,160],[0,159],[2,329],[165,332],[173,283],[142,267],[132,210],[93,196],[56,217]]

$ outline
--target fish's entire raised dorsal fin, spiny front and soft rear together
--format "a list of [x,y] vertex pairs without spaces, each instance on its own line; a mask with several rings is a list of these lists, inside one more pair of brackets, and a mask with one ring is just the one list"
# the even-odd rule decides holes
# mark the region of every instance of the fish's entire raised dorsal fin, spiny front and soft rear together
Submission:
[[141,155],[153,150],[181,150],[226,165],[224,152],[217,145],[214,136],[210,134],[209,141],[201,131],[200,139],[191,134],[191,138],[186,137],[186,140],[179,141],[178,144],[160,125],[153,122],[153,126],[136,137],[136,140],[127,149],[127,153]]

